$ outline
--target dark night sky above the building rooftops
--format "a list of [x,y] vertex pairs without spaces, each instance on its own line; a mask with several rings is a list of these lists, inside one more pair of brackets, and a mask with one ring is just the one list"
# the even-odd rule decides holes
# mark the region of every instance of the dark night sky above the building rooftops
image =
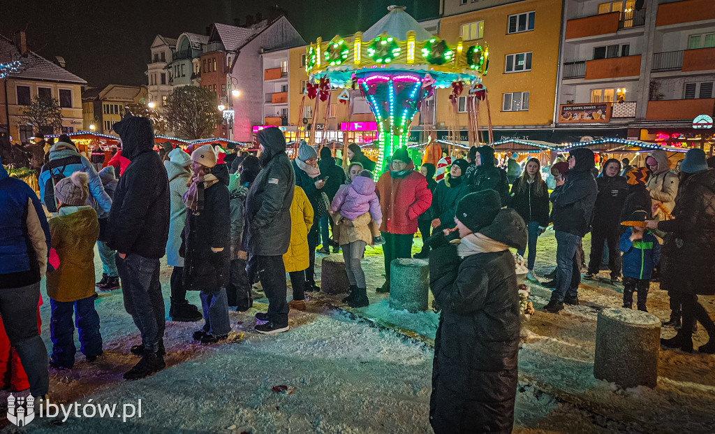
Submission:
[[[4,0],[0,34],[26,30],[29,48],[46,59],[64,57],[66,69],[90,85],[146,85],[149,47],[157,34],[205,34],[214,22],[245,22],[267,16],[270,6],[287,11],[306,42],[365,31],[395,0]],[[415,19],[438,16],[438,0],[403,0]],[[265,5],[265,6],[261,6]]]

